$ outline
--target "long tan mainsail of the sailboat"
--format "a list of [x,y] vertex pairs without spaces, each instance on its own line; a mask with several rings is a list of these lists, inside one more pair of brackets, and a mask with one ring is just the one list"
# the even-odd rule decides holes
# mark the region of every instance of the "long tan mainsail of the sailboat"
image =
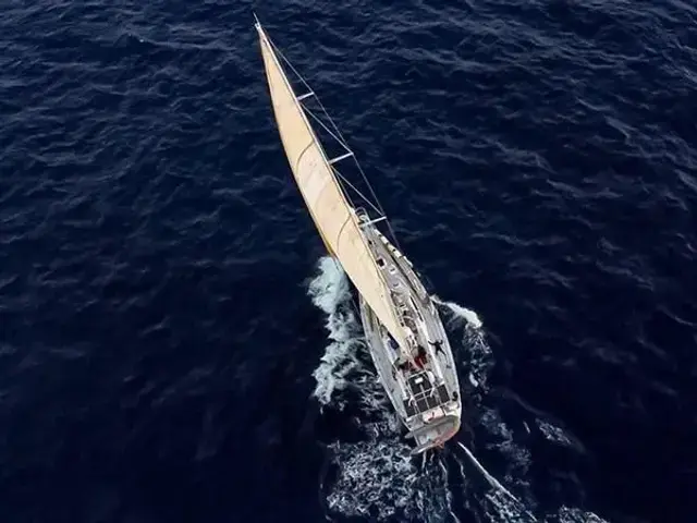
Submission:
[[365,243],[353,208],[334,178],[269,39],[258,24],[256,27],[281,141],[310,216],[330,254],[339,259],[394,340],[401,348],[406,348],[404,330],[396,320],[387,285]]

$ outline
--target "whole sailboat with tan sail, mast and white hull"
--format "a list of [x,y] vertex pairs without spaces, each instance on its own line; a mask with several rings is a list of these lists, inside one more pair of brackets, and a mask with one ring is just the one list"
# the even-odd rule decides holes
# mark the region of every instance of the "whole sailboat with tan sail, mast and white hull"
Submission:
[[[378,224],[387,222],[384,214],[376,216],[374,210],[371,215],[353,205],[334,167],[352,157],[355,160],[353,151],[334,127],[335,133],[330,133],[346,153],[328,158],[304,101],[317,95],[256,16],[255,27],[276,123],[295,182],[327,251],[357,290],[367,346],[406,437],[414,440],[412,452],[442,447],[460,429],[462,402],[455,361],[436,304],[412,263],[394,245],[396,240],[391,242],[379,230]],[[302,80],[306,93],[295,94],[281,59]]]

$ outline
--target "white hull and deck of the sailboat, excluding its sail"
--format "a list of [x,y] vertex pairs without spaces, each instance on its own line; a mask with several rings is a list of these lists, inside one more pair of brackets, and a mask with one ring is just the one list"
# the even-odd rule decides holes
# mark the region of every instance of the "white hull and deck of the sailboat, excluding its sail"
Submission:
[[[414,453],[442,446],[460,429],[462,402],[450,343],[436,305],[412,269],[411,263],[372,226],[364,228],[383,270],[398,311],[425,349],[417,365],[399,365],[400,351],[387,330],[360,300],[360,319],[380,381],[392,405],[415,439]],[[436,348],[429,342],[441,342]],[[421,363],[423,365],[418,365]]]

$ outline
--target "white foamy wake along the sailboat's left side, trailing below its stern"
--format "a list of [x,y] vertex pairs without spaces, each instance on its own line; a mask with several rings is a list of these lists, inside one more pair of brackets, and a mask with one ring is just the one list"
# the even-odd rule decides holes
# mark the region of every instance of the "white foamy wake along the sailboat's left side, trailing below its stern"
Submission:
[[[351,308],[347,279],[332,258],[319,260],[308,293],[327,315],[330,339],[313,373],[317,381],[313,396],[323,408],[357,410],[353,422],[363,436],[359,441],[338,439],[329,445],[338,467],[327,495],[330,511],[378,521],[444,521],[440,515],[448,512],[444,477],[425,474],[412,459],[377,374],[369,363],[363,363],[369,356]],[[353,404],[347,404],[343,393],[347,388],[358,392]],[[426,469],[429,466],[435,465]]]

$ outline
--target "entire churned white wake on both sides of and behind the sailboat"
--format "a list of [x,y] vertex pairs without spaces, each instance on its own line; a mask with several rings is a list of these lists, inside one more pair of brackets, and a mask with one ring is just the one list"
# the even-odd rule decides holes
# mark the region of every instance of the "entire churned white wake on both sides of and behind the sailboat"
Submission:
[[[591,512],[566,507],[555,514],[546,514],[543,520],[533,515],[536,501],[528,479],[530,451],[518,442],[496,406],[477,405],[478,418],[474,428],[484,431],[480,436],[484,436],[482,448],[487,454],[496,453],[503,459],[506,464],[503,482],[513,486],[518,496],[511,492],[511,487],[504,487],[464,446],[466,460],[475,465],[476,472],[470,471],[487,481],[488,491],[474,488],[475,483],[465,474],[462,453],[429,454],[424,462],[412,458],[401,423],[369,360],[362,326],[352,307],[348,281],[333,258],[319,260],[308,294],[326,315],[329,338],[313,373],[316,379],[313,397],[321,409],[340,410],[343,415],[351,416],[362,434],[358,441],[343,441],[339,437],[329,443],[337,466],[326,499],[332,514],[371,521],[457,522],[456,513],[464,510],[475,515],[476,521],[487,523],[607,523]],[[447,309],[445,325],[451,339],[462,337],[458,343],[452,344],[457,366],[468,373],[469,384],[485,394],[487,404],[491,404],[486,394],[486,382],[493,354],[481,319],[460,304],[432,297]],[[351,397],[348,391],[357,394]],[[525,422],[524,426],[529,434]],[[537,426],[549,440],[565,442],[564,433],[549,422],[537,421]],[[457,447],[453,448],[457,450]],[[449,477],[453,474],[460,475],[454,485]],[[455,498],[463,496],[461,507],[454,507]]]

